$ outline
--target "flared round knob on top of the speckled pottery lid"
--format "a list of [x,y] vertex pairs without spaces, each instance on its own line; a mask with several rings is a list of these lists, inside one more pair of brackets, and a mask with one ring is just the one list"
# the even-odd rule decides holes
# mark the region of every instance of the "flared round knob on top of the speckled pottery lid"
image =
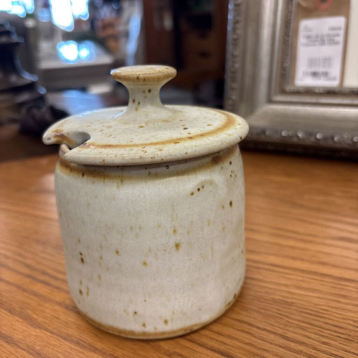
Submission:
[[111,71],[111,76],[126,86],[129,92],[128,108],[120,115],[142,116],[145,112],[155,110],[159,117],[168,116],[171,110],[163,106],[159,92],[161,87],[176,75],[170,66],[138,65],[122,67]]

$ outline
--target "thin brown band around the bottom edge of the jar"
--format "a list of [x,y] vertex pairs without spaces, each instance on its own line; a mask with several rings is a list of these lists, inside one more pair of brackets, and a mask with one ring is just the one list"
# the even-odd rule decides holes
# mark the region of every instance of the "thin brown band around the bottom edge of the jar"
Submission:
[[239,290],[237,291],[237,293],[234,295],[233,299],[226,304],[226,306],[221,309],[218,314],[216,314],[214,317],[210,318],[209,320],[205,321],[205,322],[200,322],[200,323],[196,323],[193,324],[191,326],[186,326],[183,328],[178,328],[178,329],[174,329],[174,330],[167,330],[167,331],[152,331],[152,332],[147,332],[147,331],[135,331],[135,330],[129,330],[129,329],[122,329],[122,328],[117,328],[114,326],[110,326],[107,325],[105,323],[101,323],[97,320],[94,320],[93,318],[89,317],[85,312],[81,311],[80,308],[77,307],[78,311],[80,312],[80,314],[89,322],[92,323],[94,326],[109,332],[109,333],[113,333],[113,334],[117,334],[117,335],[121,335],[122,337],[126,337],[126,338],[132,338],[132,339],[141,339],[141,340],[155,340],[155,339],[165,339],[165,338],[173,338],[173,337],[179,337],[181,335],[185,335],[188,333],[191,333],[199,328],[202,328],[206,325],[208,325],[209,323],[215,321],[216,319],[218,319],[220,316],[222,316],[223,314],[225,314],[225,312],[234,304],[234,302],[236,301],[240,290],[241,290],[242,284],[239,288]]

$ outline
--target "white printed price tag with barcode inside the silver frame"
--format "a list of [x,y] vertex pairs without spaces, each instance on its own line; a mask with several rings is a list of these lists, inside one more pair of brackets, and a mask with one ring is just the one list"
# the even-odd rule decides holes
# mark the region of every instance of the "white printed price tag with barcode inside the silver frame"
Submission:
[[295,85],[337,87],[341,83],[346,18],[302,19],[299,23]]

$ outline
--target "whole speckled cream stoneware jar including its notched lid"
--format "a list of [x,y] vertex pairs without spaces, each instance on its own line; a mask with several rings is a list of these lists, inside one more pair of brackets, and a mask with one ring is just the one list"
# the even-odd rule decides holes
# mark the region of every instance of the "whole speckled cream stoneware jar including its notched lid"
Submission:
[[81,314],[125,337],[184,334],[221,315],[245,272],[240,117],[163,106],[168,66],[121,68],[128,107],[52,125],[70,292]]

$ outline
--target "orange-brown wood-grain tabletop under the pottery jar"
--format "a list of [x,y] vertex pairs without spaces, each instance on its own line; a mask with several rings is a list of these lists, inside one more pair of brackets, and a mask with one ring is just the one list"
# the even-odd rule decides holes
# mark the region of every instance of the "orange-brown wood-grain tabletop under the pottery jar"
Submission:
[[0,356],[357,356],[357,164],[244,152],[241,294],[185,337],[137,341],[87,323],[70,297],[55,161],[0,163]]

